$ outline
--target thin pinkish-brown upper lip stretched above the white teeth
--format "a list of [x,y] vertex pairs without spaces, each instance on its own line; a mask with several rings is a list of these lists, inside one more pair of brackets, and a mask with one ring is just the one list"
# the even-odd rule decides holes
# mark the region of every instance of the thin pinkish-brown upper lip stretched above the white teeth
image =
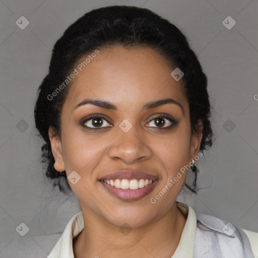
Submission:
[[112,172],[108,175],[102,176],[99,180],[110,180],[110,179],[149,179],[149,180],[157,180],[159,179],[157,176],[150,175],[144,171],[139,170],[120,170]]

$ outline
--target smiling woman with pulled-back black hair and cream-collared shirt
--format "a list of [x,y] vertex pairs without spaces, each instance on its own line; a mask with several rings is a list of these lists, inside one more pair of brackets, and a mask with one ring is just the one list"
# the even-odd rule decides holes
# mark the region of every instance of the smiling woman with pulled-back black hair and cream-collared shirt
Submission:
[[256,233],[175,201],[184,185],[197,191],[209,117],[207,78],[167,20],[112,6],[72,24],[54,46],[35,122],[46,175],[66,178],[58,186],[82,212],[48,257],[254,257]]

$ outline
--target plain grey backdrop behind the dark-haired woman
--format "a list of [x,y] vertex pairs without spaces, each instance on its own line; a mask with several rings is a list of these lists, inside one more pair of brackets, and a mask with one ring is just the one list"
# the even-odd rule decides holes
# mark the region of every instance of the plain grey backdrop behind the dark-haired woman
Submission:
[[[52,192],[43,178],[33,107],[51,49],[63,31],[86,12],[116,4],[149,8],[178,26],[208,76],[217,138],[198,162],[203,189],[178,200],[258,232],[257,1],[226,2],[0,1],[1,258],[46,257],[80,212],[74,195]],[[30,23],[23,30],[16,25],[21,16]],[[230,30],[222,23],[228,16],[236,21]],[[25,236],[16,231],[20,223],[29,228]]]

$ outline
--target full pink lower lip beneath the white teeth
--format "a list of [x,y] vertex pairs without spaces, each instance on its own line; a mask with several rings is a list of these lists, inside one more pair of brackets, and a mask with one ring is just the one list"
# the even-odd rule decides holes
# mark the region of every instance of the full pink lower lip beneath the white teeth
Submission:
[[110,184],[105,183],[104,181],[100,182],[114,197],[123,201],[137,201],[147,196],[158,183],[158,180],[153,181],[151,184],[148,184],[143,188],[138,188],[135,190],[116,188]]

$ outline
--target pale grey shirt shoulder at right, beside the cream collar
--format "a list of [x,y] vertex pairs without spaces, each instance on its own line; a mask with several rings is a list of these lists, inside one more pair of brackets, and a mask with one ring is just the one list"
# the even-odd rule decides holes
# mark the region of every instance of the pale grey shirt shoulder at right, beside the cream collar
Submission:
[[252,250],[254,247],[241,228],[203,213],[196,213],[196,218],[194,257],[218,257],[222,255],[222,250],[225,257],[255,257]]

